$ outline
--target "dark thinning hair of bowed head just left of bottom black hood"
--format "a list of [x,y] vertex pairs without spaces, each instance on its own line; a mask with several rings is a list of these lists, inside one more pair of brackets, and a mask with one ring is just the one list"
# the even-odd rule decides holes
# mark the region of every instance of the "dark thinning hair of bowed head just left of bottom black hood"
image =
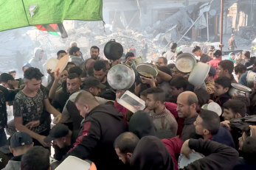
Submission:
[[132,132],[124,132],[114,141],[114,148],[120,149],[122,154],[133,153],[139,138]]

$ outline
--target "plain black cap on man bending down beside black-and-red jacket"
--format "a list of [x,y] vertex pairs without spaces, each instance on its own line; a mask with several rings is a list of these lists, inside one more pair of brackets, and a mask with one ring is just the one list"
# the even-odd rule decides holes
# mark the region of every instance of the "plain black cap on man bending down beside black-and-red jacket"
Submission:
[[56,138],[63,138],[69,134],[69,127],[64,124],[56,124],[52,127],[52,130],[49,131],[49,135],[44,138],[46,143],[50,143]]

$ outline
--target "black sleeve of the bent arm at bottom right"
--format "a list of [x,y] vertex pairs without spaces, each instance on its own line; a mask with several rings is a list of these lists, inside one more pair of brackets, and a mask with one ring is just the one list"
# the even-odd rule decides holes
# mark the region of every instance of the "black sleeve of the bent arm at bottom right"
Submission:
[[203,139],[190,139],[190,149],[200,152],[205,157],[196,160],[184,169],[232,169],[238,160],[238,152],[224,144]]

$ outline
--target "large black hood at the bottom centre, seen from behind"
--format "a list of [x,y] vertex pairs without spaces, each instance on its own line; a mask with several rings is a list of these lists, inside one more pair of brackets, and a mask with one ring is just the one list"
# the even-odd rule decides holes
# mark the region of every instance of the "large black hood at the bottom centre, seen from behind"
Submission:
[[159,138],[145,136],[139,140],[131,157],[131,169],[174,169],[173,159]]

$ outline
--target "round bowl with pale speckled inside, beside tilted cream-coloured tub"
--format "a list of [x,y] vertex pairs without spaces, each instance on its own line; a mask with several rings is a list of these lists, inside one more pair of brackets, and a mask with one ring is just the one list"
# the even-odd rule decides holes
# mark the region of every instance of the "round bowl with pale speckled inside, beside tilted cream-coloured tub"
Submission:
[[196,58],[189,53],[179,54],[175,67],[182,73],[190,73],[196,65]]

